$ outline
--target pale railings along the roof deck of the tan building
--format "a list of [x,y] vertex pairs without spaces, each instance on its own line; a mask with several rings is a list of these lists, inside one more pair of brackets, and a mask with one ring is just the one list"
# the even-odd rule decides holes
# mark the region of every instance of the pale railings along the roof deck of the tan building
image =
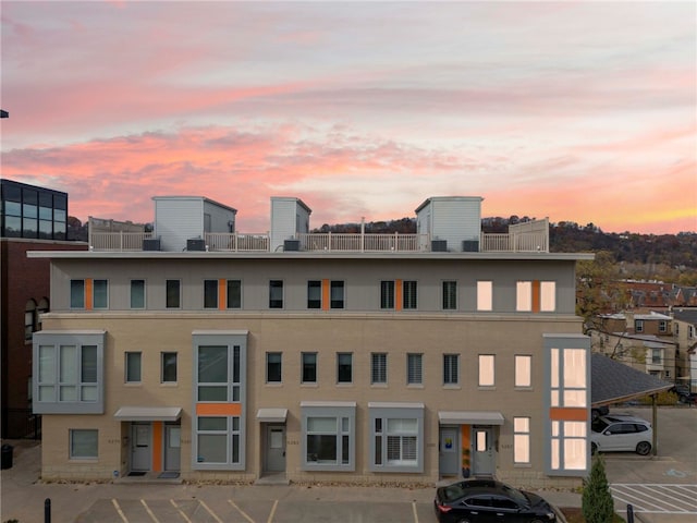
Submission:
[[[205,233],[205,251],[231,253],[271,252],[268,233]],[[479,241],[468,245],[448,245],[448,251],[479,253],[549,253],[549,234],[543,232],[481,233]],[[296,234],[279,252],[334,253],[431,253],[444,252],[442,243],[428,234]],[[158,240],[151,232],[90,232],[89,250],[100,252],[159,251]]]

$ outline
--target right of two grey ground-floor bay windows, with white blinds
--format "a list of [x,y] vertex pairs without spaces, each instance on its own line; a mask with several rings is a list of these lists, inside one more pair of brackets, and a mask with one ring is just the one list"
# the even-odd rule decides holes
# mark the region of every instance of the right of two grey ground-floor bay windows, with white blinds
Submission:
[[368,403],[372,472],[423,472],[424,406],[403,405]]

